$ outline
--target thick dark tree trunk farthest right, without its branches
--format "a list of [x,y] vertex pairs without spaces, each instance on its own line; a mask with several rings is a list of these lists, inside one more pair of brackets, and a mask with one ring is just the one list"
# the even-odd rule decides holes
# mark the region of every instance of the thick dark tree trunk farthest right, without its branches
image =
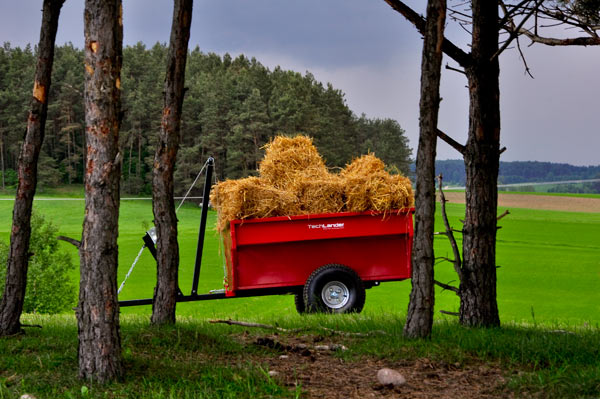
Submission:
[[472,64],[469,80],[469,138],[465,149],[466,214],[460,322],[500,325],[496,302],[496,213],[500,148],[498,5],[473,0]]

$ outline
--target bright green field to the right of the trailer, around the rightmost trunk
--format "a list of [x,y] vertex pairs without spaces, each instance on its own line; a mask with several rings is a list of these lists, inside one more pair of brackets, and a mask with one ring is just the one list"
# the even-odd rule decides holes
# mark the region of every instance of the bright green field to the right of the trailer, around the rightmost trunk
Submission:
[[[505,208],[498,209],[502,213]],[[460,228],[464,205],[448,204]],[[542,325],[600,324],[600,214],[510,209],[497,234],[498,306],[503,320]],[[439,218],[438,218],[439,219]],[[438,222],[436,222],[437,224]],[[442,231],[441,224],[437,230]],[[457,235],[460,242],[460,235]],[[451,254],[436,238],[436,254]],[[455,280],[452,266],[436,269],[441,281]],[[458,309],[450,292],[436,297],[439,309]]]

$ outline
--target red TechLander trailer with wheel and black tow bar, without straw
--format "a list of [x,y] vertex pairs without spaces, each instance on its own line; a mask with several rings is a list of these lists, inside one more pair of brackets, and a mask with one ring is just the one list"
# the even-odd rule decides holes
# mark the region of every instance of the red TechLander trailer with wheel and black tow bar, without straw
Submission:
[[[204,198],[209,197],[212,162]],[[202,208],[190,295],[178,302],[294,294],[298,312],[360,312],[365,289],[411,277],[414,209],[234,220],[223,234],[225,289],[198,294],[208,207]],[[156,257],[151,232],[144,242]],[[152,299],[120,301],[147,305]]]

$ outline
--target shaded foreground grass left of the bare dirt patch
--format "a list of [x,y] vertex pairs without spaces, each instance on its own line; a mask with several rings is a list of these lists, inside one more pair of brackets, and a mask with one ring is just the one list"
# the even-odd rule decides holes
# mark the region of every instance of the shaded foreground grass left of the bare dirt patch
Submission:
[[[124,381],[97,385],[77,378],[74,317],[30,316],[43,324],[24,336],[0,339],[0,398],[263,398],[295,397],[251,362],[259,348],[246,347],[222,328],[178,321],[147,328],[136,316],[122,322]],[[221,330],[221,331],[219,331]]]

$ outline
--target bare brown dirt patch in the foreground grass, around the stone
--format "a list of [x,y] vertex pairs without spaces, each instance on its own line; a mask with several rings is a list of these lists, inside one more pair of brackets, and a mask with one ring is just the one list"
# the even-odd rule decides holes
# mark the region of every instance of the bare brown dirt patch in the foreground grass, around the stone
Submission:
[[[269,335],[242,338],[247,344],[272,350],[262,357],[274,379],[295,390],[300,385],[306,398],[411,398],[461,399],[510,398],[506,390],[505,370],[473,360],[471,364],[446,364],[429,359],[386,361],[363,359],[345,361],[335,351],[344,350],[316,337]],[[335,348],[335,350],[332,350]],[[390,368],[406,379],[401,386],[384,386],[377,371]]]

